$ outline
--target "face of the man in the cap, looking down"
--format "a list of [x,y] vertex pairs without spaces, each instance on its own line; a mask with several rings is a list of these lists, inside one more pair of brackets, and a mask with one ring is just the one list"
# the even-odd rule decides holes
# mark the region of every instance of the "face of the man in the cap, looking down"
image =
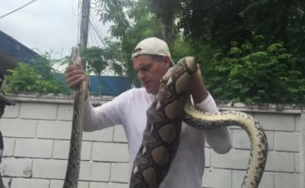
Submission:
[[[164,58],[163,58],[164,59]],[[169,58],[158,62],[149,55],[140,55],[132,59],[133,68],[148,93],[156,95],[159,91],[160,80],[170,67]]]

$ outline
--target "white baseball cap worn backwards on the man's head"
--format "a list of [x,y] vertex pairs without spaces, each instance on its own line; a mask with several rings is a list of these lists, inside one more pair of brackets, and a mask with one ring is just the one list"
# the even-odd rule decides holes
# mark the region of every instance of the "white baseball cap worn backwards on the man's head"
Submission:
[[171,62],[175,65],[167,43],[155,37],[144,39],[135,46],[131,53],[131,59],[139,55],[167,55],[170,57]]

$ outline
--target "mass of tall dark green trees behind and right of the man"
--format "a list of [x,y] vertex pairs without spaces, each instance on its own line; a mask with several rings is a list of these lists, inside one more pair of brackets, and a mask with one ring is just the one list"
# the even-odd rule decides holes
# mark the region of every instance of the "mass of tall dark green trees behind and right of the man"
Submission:
[[97,1],[136,86],[131,51],[153,36],[166,38],[175,62],[195,56],[218,100],[305,102],[305,1]]

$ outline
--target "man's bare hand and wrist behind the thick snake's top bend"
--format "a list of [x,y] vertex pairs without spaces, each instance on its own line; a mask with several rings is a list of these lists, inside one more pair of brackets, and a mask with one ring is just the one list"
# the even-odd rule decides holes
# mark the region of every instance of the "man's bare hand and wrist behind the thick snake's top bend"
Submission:
[[193,75],[190,85],[190,93],[193,97],[194,103],[201,103],[207,96],[208,91],[205,88],[205,85],[202,80],[202,75],[200,71],[200,65],[197,64],[198,70]]

